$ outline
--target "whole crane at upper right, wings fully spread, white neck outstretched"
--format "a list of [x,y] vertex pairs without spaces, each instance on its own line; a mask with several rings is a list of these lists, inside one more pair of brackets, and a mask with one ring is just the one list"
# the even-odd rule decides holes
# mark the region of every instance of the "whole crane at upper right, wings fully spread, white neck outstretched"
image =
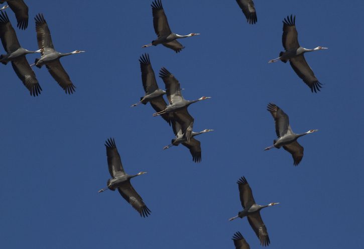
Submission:
[[292,17],[292,15],[291,17],[287,16],[287,19],[285,18],[283,21],[282,44],[285,52],[281,52],[278,58],[270,60],[268,63],[277,61],[287,63],[289,61],[293,70],[311,89],[311,92],[317,93],[317,91],[320,91],[322,84],[317,80],[310,66],[308,66],[303,54],[328,48],[318,46],[314,49],[305,49],[301,47],[298,43],[296,16]]

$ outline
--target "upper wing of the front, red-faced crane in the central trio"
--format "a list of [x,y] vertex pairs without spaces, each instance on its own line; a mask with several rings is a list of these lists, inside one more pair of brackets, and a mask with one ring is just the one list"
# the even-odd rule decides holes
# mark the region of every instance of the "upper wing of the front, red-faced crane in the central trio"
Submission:
[[159,72],[159,77],[162,78],[166,85],[167,98],[170,104],[173,102],[182,101],[181,88],[178,80],[165,68]]

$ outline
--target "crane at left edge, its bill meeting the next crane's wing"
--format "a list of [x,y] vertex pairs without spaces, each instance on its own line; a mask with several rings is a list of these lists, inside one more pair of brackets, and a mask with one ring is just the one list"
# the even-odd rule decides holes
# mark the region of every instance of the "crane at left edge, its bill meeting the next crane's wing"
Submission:
[[7,65],[8,62],[11,61],[15,73],[29,90],[30,95],[33,95],[34,97],[38,96],[38,94],[41,93],[42,88],[39,85],[34,71],[29,66],[26,55],[40,53],[40,50],[29,51],[20,46],[17,34],[15,33],[6,12],[0,12],[0,39],[7,52],[6,55],[0,55],[0,62]]

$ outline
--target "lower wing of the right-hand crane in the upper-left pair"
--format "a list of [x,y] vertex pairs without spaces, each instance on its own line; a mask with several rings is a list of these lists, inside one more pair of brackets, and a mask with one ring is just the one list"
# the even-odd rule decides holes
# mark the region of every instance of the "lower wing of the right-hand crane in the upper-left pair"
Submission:
[[58,82],[66,94],[72,94],[75,91],[75,86],[72,84],[71,79],[62,67],[61,62],[58,60],[46,64],[49,73]]

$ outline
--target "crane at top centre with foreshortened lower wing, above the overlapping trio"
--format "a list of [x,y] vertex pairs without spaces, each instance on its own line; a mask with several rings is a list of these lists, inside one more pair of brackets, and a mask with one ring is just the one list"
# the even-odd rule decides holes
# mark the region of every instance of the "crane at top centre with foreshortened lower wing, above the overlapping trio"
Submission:
[[173,33],[169,28],[166,14],[164,13],[161,0],[155,0],[152,3],[152,13],[153,13],[153,25],[154,31],[158,36],[157,40],[152,41],[152,43],[144,45],[142,48],[147,48],[150,46],[157,46],[162,44],[163,46],[173,49],[176,53],[180,52],[185,47],[182,46],[176,39],[192,37],[200,35],[198,33],[190,33],[185,36]]

